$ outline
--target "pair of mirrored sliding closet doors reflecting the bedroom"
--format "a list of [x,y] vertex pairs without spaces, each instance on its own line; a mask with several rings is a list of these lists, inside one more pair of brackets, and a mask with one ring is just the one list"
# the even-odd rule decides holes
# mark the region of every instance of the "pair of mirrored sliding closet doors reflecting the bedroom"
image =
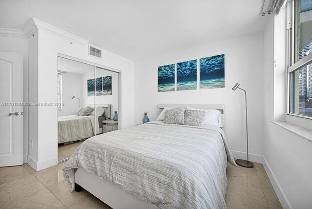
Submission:
[[67,160],[86,139],[118,129],[119,74],[58,57],[58,155]]

